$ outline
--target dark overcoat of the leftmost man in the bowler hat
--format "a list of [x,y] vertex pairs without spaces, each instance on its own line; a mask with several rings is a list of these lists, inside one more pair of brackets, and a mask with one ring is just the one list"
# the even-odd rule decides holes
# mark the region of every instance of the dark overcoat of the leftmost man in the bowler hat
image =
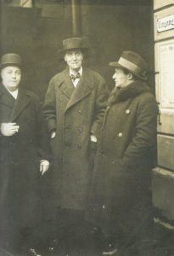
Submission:
[[38,213],[40,160],[50,157],[47,128],[34,93],[19,89],[15,101],[0,84],[0,124],[11,122],[20,129],[14,136],[0,135],[1,222],[25,227]]

